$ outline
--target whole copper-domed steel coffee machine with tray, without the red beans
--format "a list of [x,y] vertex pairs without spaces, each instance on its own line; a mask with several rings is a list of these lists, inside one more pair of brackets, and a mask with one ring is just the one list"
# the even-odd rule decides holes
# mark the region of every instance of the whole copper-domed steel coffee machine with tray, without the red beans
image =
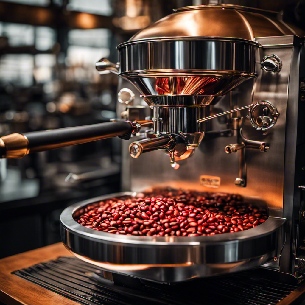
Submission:
[[167,283],[261,265],[300,276],[305,273],[303,37],[271,11],[235,5],[176,9],[120,44],[119,63],[96,64],[101,74],[113,72],[133,84],[151,118],[141,105],[132,105],[132,92],[122,89],[127,116],[137,115],[4,136],[1,156],[21,158],[120,136],[122,185],[129,192],[110,198],[171,187],[237,193],[268,207],[267,221],[247,231],[150,237],[94,231],[74,221],[83,206],[109,196],[70,206],[61,215],[63,243],[106,271]]

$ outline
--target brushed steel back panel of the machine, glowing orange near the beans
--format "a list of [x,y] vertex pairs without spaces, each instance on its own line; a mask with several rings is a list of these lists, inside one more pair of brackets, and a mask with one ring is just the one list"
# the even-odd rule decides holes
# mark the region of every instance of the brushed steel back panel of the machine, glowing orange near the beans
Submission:
[[[278,55],[283,63],[279,73],[267,73],[260,69],[261,59],[270,53]],[[290,61],[292,47],[279,49],[257,50],[256,60],[258,77],[254,83],[247,81],[240,85],[232,94],[232,102],[237,106],[246,106],[259,100],[267,100],[273,103],[280,113],[274,127],[268,130],[267,135],[257,131],[246,119],[243,134],[250,140],[267,142],[270,149],[260,152],[255,149],[246,149],[247,186],[237,188],[234,185],[235,178],[239,175],[239,153],[226,154],[226,145],[236,143],[236,137],[212,137],[206,135],[194,155],[180,161],[180,168],[170,168],[169,157],[160,151],[140,156],[131,163],[131,185],[129,189],[141,191],[154,186],[171,186],[175,188],[190,188],[201,191],[210,189],[200,185],[201,175],[211,175],[221,178],[217,191],[239,193],[242,196],[251,197],[253,200],[263,199],[269,207],[278,210],[278,216],[282,217],[283,208],[283,180],[284,180],[284,156],[285,156],[285,121],[287,106],[287,91],[289,82]],[[233,105],[234,106],[234,105]],[[214,107],[210,107],[210,113],[223,112],[231,109],[229,95],[225,96]],[[241,113],[246,116],[247,111]],[[227,128],[225,118],[213,119],[209,130],[222,130]],[[227,120],[228,121],[228,120]],[[134,139],[133,139],[134,141]],[[129,145],[129,143],[123,143]],[[126,177],[123,177],[125,179]]]

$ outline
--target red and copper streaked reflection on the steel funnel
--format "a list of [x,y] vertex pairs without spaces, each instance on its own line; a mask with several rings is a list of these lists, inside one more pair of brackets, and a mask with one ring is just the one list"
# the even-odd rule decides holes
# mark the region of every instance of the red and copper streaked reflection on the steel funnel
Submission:
[[160,77],[156,80],[156,91],[160,95],[206,95],[217,82],[212,76]]

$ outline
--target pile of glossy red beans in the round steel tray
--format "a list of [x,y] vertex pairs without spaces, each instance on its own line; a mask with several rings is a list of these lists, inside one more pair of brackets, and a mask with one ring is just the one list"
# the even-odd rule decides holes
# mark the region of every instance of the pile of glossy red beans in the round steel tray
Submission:
[[254,228],[268,218],[265,208],[249,205],[239,195],[181,190],[111,198],[79,212],[76,221],[87,228],[136,236],[238,232]]

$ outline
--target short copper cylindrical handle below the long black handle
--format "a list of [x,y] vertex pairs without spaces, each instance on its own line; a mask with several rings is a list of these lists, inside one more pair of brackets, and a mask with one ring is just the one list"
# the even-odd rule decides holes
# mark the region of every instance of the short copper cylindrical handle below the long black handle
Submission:
[[132,142],[129,145],[129,153],[131,157],[138,158],[143,152],[151,152],[157,149],[170,148],[174,140],[168,136],[157,137],[152,139],[143,139],[140,141]]

